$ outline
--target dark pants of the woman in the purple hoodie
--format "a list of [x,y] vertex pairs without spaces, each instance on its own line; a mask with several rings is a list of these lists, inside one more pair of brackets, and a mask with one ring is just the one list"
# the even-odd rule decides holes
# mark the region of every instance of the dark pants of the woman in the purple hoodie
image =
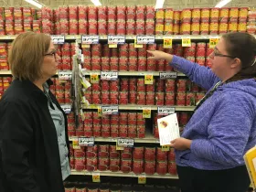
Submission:
[[177,166],[181,192],[246,192],[250,177],[245,165],[209,171]]

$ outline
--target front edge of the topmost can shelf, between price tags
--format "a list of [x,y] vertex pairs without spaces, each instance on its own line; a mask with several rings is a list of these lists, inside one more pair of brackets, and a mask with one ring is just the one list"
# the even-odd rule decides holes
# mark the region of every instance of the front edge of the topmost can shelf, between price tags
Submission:
[[[15,39],[17,36],[0,36],[0,40],[13,40]],[[133,40],[136,36],[125,36],[125,39],[127,40]],[[170,37],[173,40],[181,40],[182,38],[186,38],[186,37],[190,37],[191,40],[206,40],[209,38],[219,38],[221,36],[219,35],[206,35],[206,36],[190,36],[190,35],[174,35],[174,36],[161,36],[161,35],[157,35],[155,36],[155,40],[162,40],[164,39],[164,37]],[[256,37],[256,36],[254,36]],[[107,40],[108,36],[99,36],[100,40]],[[76,40],[76,39],[81,39],[81,35],[66,35],[65,39],[67,40]]]

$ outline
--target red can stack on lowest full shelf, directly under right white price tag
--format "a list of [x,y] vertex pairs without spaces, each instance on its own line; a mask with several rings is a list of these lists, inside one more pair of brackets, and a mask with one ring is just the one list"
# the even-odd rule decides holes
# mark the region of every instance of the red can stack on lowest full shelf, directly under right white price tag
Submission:
[[130,173],[133,169],[133,148],[124,147],[121,152],[121,171],[123,173]]

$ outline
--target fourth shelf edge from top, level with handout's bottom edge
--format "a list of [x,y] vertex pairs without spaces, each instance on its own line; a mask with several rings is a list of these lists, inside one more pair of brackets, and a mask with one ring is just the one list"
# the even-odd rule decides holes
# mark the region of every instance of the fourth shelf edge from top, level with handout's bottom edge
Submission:
[[[69,136],[69,141],[78,141],[78,136]],[[118,138],[112,138],[112,137],[94,137],[95,142],[117,142]],[[149,133],[147,131],[145,133],[145,138],[134,138],[135,144],[159,144],[159,139],[155,139],[154,135],[152,133]]]

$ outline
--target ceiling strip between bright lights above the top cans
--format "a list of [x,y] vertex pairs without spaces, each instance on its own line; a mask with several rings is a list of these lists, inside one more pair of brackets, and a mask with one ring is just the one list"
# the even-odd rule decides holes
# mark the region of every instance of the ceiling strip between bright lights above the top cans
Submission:
[[[92,5],[90,0],[38,0],[44,5],[58,7],[59,5]],[[100,0],[102,5],[155,5],[155,0]],[[219,0],[165,0],[165,7],[174,9],[194,7],[214,7]],[[25,6],[24,0],[0,0],[0,6]],[[226,6],[256,6],[256,0],[232,0]]]

